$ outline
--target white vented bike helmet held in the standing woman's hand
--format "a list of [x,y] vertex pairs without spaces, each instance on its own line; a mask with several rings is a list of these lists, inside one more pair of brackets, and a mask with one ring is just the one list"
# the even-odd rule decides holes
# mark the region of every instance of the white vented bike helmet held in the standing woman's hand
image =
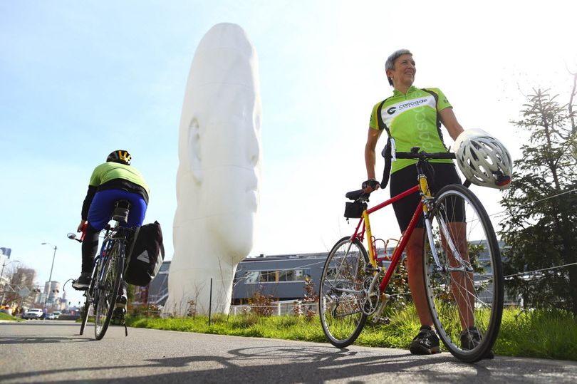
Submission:
[[467,180],[482,187],[509,188],[511,155],[499,140],[484,130],[463,131],[454,142],[457,165]]

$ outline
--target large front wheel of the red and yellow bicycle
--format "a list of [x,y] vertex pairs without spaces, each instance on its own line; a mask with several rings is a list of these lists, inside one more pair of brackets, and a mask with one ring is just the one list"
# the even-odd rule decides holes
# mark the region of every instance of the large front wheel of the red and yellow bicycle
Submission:
[[[459,207],[464,209],[464,220],[455,219]],[[435,196],[430,223],[422,259],[427,303],[437,334],[459,360],[472,363],[492,357],[501,326],[504,280],[499,243],[489,215],[469,189],[447,185]],[[430,241],[442,269],[435,264]],[[463,256],[465,263],[457,261],[454,254]],[[448,270],[467,262],[469,271]],[[472,338],[462,336],[469,327],[478,332],[469,333]]]

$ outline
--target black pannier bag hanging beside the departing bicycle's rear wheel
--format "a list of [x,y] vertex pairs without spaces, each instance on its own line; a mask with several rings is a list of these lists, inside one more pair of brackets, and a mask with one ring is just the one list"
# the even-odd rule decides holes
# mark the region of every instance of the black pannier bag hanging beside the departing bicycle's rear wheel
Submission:
[[128,253],[124,280],[135,286],[147,286],[165,259],[160,224],[154,222],[137,227],[134,239]]

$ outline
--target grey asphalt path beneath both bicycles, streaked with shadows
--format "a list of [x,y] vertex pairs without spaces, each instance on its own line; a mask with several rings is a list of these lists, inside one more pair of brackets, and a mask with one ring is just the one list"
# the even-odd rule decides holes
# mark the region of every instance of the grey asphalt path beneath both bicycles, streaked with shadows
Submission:
[[0,383],[577,383],[577,363],[461,363],[390,348],[109,328],[73,321],[0,323]]

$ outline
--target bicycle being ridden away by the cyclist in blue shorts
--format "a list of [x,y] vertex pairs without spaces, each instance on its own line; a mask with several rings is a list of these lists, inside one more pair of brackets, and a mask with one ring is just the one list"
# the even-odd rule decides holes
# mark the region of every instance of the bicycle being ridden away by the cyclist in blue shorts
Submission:
[[[119,200],[115,202],[115,209],[111,219],[115,221],[113,227],[110,224],[105,226],[105,234],[100,253],[94,259],[94,267],[90,286],[84,293],[85,302],[82,311],[82,323],[80,325],[80,335],[84,333],[84,328],[88,322],[90,311],[94,309],[94,336],[96,340],[104,337],[110,320],[113,318],[116,298],[122,294],[123,273],[126,260],[125,249],[130,244],[133,229],[121,227],[128,222],[130,212],[130,202]],[[78,242],[83,241],[84,235],[76,239],[76,234],[68,234],[69,239]],[[128,329],[125,326],[125,335],[128,336]]]

